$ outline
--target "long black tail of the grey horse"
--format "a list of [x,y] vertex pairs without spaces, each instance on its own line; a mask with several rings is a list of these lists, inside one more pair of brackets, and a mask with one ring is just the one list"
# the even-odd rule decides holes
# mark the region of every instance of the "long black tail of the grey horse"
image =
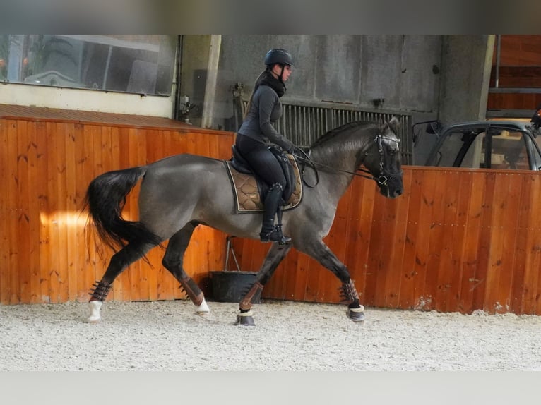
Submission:
[[121,216],[126,195],[145,171],[145,167],[108,171],[91,181],[86,191],[83,210],[88,208],[100,239],[115,252],[127,243],[133,243],[133,247],[141,248],[141,255],[144,255],[143,245],[161,242],[142,222],[126,221]]

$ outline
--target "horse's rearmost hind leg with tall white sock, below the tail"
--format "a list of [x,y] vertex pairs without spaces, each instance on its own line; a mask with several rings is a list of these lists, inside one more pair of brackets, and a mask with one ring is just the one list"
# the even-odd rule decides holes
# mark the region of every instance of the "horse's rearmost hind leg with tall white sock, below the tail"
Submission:
[[139,244],[129,243],[112,256],[102,279],[100,282],[95,282],[93,285],[93,291],[90,293],[90,301],[88,302],[90,314],[88,315],[87,322],[95,323],[101,319],[100,309],[102,308],[103,301],[105,301],[105,298],[107,298],[107,295],[111,290],[114,279],[116,279],[126,267],[131,265],[131,263],[141,259],[143,255],[154,246],[155,245],[150,244],[141,246]]

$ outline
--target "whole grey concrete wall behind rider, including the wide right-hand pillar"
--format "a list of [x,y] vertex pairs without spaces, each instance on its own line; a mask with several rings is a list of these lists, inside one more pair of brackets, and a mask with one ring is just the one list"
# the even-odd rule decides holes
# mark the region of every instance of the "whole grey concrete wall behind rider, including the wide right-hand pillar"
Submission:
[[[201,125],[210,35],[184,35],[181,93],[198,108]],[[220,35],[218,80],[210,128],[236,131],[232,87],[248,98],[268,49],[288,49],[295,68],[283,101],[335,103],[357,109],[411,114],[412,122],[484,119],[494,35]],[[207,47],[206,47],[207,46]],[[206,47],[206,48],[205,48]],[[191,68],[189,68],[191,66]],[[376,106],[374,100],[383,100]],[[422,135],[415,163],[434,138]]]

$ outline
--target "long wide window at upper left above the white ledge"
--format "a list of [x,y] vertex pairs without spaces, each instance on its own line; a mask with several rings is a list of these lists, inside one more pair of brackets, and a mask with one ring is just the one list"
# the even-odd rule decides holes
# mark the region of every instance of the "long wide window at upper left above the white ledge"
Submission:
[[0,80],[168,96],[177,37],[0,35]]

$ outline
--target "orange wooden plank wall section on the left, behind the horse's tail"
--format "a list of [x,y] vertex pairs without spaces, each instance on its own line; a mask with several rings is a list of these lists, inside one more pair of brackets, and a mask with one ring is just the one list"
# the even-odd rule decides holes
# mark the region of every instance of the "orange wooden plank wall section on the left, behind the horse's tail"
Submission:
[[[0,119],[0,303],[87,301],[110,253],[84,234],[81,204],[88,183],[104,171],[182,152],[228,159],[233,133],[201,128],[134,128],[40,119]],[[124,210],[136,218],[136,190]],[[100,259],[105,254],[105,262]],[[202,284],[221,270],[225,235],[198,227],[186,268]],[[184,298],[161,265],[162,250],[131,265],[109,299]]]

